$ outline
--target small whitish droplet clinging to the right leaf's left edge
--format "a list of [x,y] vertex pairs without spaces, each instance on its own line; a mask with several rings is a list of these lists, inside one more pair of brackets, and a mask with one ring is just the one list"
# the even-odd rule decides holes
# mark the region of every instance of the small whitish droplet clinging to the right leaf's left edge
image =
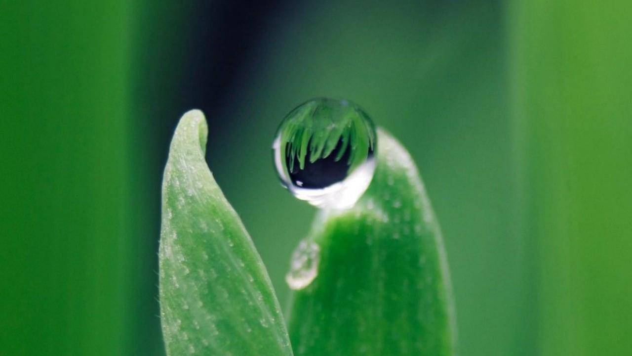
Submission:
[[320,248],[312,241],[301,241],[292,254],[292,262],[285,280],[292,289],[303,289],[318,275]]

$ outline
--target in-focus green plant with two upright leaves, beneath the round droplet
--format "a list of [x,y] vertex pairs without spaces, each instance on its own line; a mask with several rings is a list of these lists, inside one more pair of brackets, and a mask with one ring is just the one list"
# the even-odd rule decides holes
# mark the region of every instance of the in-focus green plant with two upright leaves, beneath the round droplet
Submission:
[[295,252],[288,279],[300,283],[291,283],[288,334],[255,246],[204,161],[206,137],[204,115],[186,113],[164,173],[159,258],[167,354],[454,353],[441,232],[396,139],[378,130],[367,191],[350,208],[320,210]]

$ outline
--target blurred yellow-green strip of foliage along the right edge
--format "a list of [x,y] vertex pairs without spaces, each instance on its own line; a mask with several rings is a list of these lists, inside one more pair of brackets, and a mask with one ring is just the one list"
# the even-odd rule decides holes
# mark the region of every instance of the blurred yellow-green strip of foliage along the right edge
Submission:
[[632,350],[632,3],[516,2],[523,234],[541,355]]

